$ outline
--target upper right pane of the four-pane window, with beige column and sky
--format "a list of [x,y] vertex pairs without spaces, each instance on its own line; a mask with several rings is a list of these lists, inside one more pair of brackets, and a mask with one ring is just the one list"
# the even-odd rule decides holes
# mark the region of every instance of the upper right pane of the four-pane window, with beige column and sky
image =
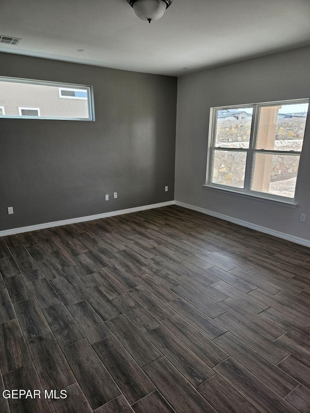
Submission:
[[257,149],[301,152],[307,104],[261,107]]

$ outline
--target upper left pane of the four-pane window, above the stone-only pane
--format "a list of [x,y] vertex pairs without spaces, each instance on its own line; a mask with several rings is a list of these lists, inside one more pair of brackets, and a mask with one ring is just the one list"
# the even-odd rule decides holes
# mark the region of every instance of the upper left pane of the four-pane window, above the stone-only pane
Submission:
[[248,148],[252,107],[217,110],[216,142],[221,148]]

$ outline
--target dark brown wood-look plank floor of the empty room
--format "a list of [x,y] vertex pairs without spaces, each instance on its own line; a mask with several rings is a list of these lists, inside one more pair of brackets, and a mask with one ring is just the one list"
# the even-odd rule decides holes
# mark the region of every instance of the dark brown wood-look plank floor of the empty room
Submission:
[[1,413],[310,412],[310,248],[177,206],[0,238]]

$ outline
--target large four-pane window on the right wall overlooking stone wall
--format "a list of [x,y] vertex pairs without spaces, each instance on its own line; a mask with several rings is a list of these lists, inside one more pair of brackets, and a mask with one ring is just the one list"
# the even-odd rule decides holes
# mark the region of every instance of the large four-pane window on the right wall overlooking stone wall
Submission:
[[309,99],[211,109],[207,186],[294,200]]

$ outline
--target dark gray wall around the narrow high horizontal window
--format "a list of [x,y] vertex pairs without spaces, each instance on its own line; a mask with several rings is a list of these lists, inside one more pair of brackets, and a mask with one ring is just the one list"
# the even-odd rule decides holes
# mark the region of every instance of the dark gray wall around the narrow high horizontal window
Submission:
[[177,78],[5,53],[0,76],[93,85],[96,117],[0,119],[0,230],[174,199]]

